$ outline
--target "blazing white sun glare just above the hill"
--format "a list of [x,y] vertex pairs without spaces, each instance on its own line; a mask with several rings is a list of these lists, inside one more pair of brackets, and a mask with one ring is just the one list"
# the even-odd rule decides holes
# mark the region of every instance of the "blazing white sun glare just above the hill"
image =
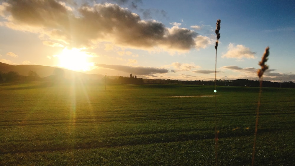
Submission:
[[89,62],[89,55],[77,48],[63,49],[63,51],[56,55],[59,59],[59,65],[62,68],[75,71],[91,70],[93,63]]

